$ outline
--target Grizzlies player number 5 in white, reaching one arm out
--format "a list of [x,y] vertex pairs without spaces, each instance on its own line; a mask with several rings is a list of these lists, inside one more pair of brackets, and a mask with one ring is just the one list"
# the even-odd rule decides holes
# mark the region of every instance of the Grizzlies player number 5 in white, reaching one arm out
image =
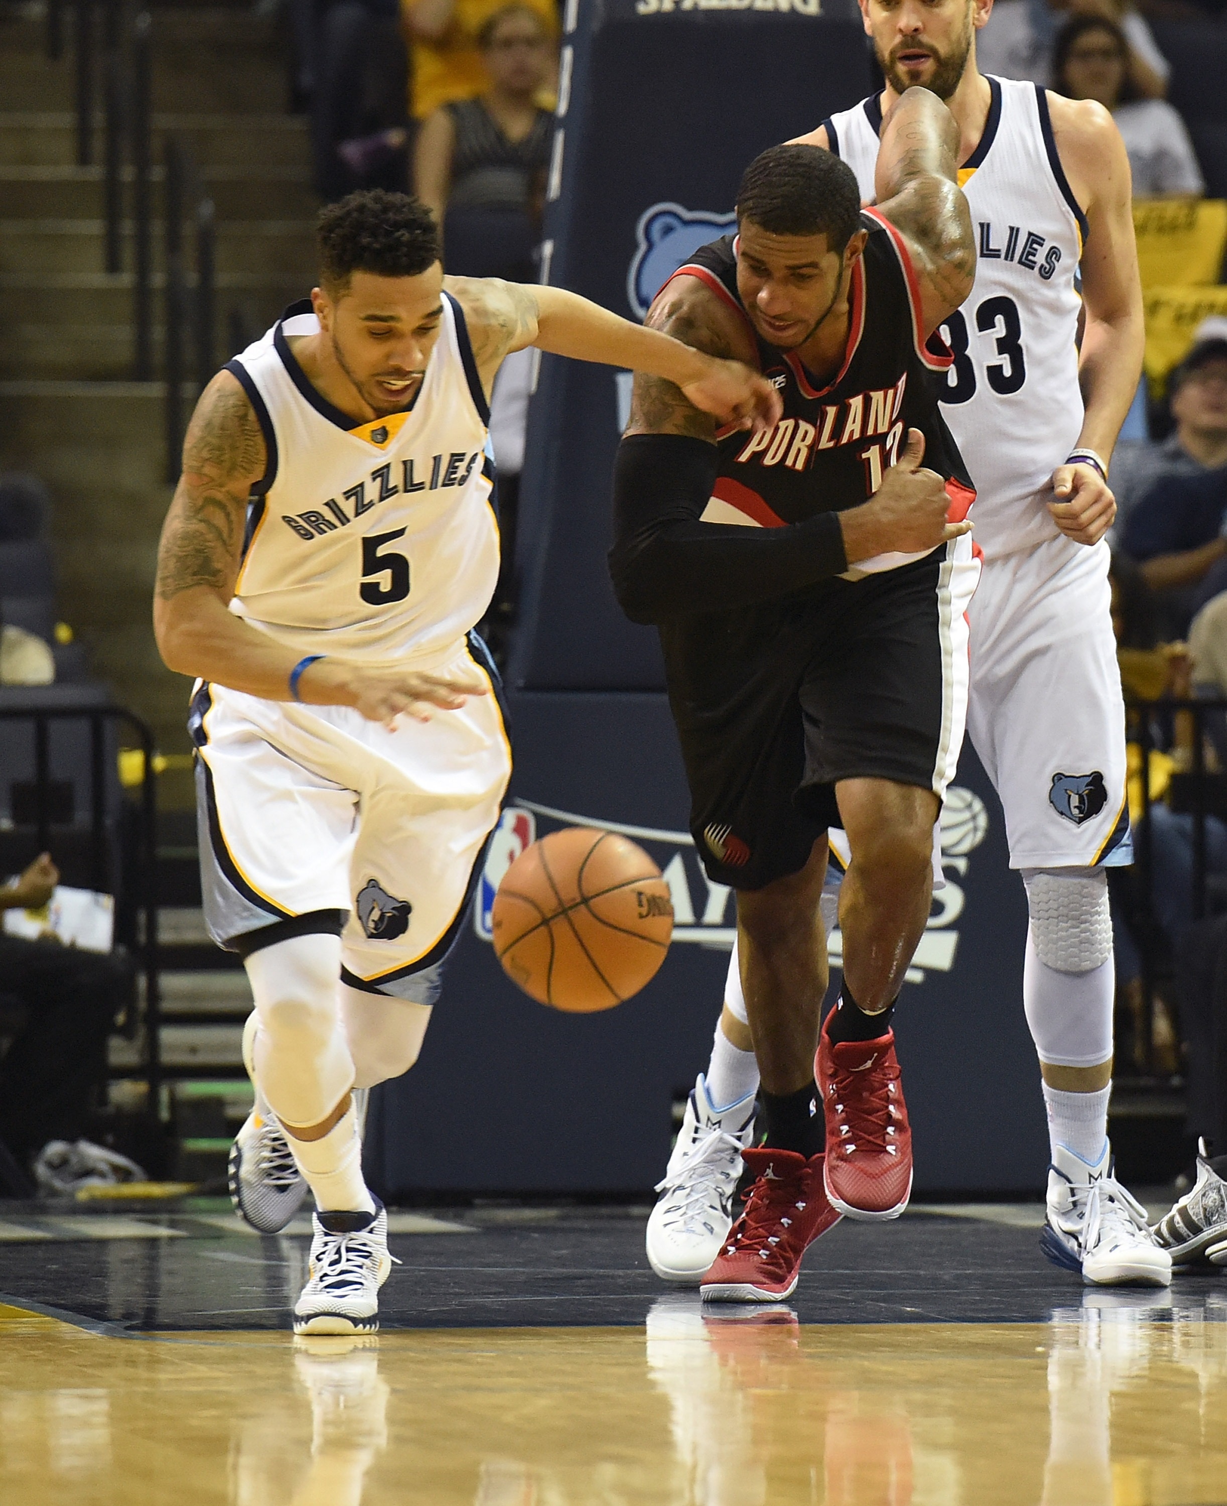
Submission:
[[403,194],[331,205],[319,248],[310,301],[200,396],[154,620],[167,666],[197,678],[205,916],[254,995],[232,1193],[272,1232],[306,1179],[295,1330],[351,1333],[378,1327],[391,1268],[352,1092],[417,1057],[510,773],[471,633],[498,574],[498,364],[536,345],[653,372],[747,428],[780,402],[574,294],[444,277]]

